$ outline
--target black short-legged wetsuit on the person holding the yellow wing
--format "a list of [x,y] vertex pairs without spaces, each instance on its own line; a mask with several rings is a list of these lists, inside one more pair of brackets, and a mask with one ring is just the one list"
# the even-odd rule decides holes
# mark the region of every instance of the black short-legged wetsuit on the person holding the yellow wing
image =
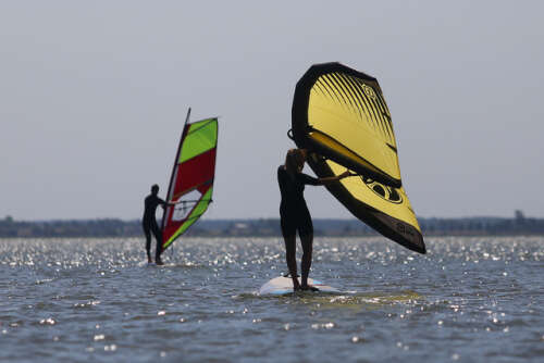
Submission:
[[277,183],[282,193],[280,216],[283,236],[295,236],[297,230],[299,236],[313,234],[304,190],[305,185],[319,185],[319,179],[304,173],[296,173],[292,176],[282,165],[277,168]]

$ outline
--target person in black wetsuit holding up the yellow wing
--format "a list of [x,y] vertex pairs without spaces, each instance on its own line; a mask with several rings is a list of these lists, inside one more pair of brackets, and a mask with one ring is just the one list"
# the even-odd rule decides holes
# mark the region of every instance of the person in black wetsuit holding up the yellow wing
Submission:
[[[338,176],[324,178],[314,178],[304,174],[302,167],[307,154],[308,151],[306,149],[290,149],[287,151],[285,164],[277,167],[277,183],[282,195],[282,202],[280,203],[282,235],[285,241],[287,267],[293,278],[293,289],[295,291],[318,290],[316,287],[308,285],[313,243],[313,224],[304,198],[305,185],[325,185],[355,175],[349,171]],[[302,245],[302,261],[300,264],[302,279],[300,283],[297,278],[296,262],[297,230]]]

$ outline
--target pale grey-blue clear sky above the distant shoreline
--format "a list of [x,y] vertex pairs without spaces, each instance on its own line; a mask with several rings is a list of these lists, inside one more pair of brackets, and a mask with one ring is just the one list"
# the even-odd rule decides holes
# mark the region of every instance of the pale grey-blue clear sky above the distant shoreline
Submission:
[[[376,77],[418,216],[544,217],[544,2],[0,0],[0,218],[139,218],[187,108],[220,116],[207,218],[279,217],[297,80]],[[312,174],[307,166],[305,172]],[[313,217],[353,216],[323,187]]]

